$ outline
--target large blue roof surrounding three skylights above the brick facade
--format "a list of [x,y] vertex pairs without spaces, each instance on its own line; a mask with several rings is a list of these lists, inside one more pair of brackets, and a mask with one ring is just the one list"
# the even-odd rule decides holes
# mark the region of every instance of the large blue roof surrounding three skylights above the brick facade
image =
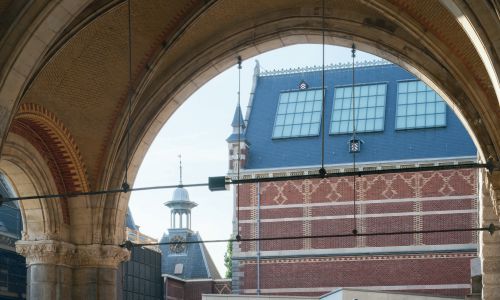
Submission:
[[[309,88],[321,88],[321,72],[303,72],[257,77],[255,96],[245,138],[250,147],[246,169],[313,166],[321,163],[321,132],[318,136],[273,139],[272,132],[280,92],[297,90],[304,80]],[[416,78],[397,65],[358,67],[356,84],[387,83],[384,131],[358,133],[363,140],[356,154],[358,162],[404,161],[444,157],[475,156],[476,148],[463,125],[447,107],[446,127],[395,129],[398,81]],[[352,84],[351,69],[325,72],[326,130],[329,132],[334,88]],[[348,164],[352,154],[347,143],[351,134],[325,135],[325,163]]]

